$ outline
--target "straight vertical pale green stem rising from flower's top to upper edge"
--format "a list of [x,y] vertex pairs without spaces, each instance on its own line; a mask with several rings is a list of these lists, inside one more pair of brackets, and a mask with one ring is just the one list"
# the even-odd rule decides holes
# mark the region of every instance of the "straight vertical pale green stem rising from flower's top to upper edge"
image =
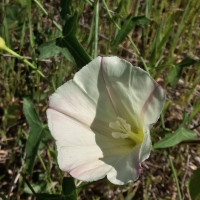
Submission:
[[99,0],[95,1],[94,58],[98,55]]

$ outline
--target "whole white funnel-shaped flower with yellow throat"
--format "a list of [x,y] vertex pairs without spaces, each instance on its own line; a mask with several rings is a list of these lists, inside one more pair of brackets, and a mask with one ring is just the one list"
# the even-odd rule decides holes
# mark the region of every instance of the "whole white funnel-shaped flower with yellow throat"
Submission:
[[50,97],[59,167],[82,181],[136,180],[164,102],[163,89],[142,69],[118,57],[95,58]]

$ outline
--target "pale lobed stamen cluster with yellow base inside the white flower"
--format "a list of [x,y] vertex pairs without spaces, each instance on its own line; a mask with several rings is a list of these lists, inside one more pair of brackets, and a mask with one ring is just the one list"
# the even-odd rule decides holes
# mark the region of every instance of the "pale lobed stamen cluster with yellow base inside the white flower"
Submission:
[[126,120],[121,117],[117,117],[116,122],[110,122],[109,127],[114,129],[115,132],[112,132],[114,138],[130,138],[136,145],[142,143],[144,138],[144,133],[142,129],[138,129],[137,133],[131,131],[131,125],[126,123]]

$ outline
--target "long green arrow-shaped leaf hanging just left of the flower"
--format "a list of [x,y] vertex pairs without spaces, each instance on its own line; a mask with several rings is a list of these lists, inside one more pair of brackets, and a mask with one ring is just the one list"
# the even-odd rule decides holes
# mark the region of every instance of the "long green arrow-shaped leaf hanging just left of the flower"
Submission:
[[31,175],[40,141],[45,136],[47,130],[44,128],[35,108],[28,99],[24,99],[23,101],[23,111],[30,126],[29,136],[26,143],[25,169],[29,175]]

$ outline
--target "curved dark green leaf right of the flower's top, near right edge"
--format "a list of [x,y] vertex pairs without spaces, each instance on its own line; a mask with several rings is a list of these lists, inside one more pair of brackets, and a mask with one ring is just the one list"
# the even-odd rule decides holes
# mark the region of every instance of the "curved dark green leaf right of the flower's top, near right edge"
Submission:
[[175,87],[178,83],[178,80],[182,74],[183,67],[188,67],[190,65],[193,65],[197,63],[196,60],[186,57],[184,60],[182,60],[180,63],[178,63],[174,69],[169,73],[168,81],[171,83],[172,87]]

